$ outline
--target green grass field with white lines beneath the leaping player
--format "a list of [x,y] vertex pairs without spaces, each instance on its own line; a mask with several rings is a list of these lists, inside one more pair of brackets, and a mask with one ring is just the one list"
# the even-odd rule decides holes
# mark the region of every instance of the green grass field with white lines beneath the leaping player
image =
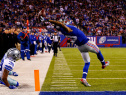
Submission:
[[100,48],[110,65],[105,69],[96,54],[90,53],[87,80],[91,87],[80,83],[84,61],[77,48],[62,48],[53,57],[41,91],[126,91],[126,48]]

